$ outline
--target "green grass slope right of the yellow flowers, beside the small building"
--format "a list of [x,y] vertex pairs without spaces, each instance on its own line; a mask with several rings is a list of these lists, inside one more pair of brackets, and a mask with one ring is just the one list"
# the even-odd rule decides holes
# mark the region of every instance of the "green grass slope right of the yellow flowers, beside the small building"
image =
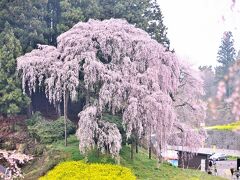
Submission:
[[[156,159],[148,159],[148,154],[141,149],[130,160],[130,149],[124,147],[121,151],[121,164],[133,170],[137,179],[144,180],[221,180],[223,178],[210,176],[198,170],[181,169],[167,163],[157,165]],[[157,167],[159,166],[159,167]]]

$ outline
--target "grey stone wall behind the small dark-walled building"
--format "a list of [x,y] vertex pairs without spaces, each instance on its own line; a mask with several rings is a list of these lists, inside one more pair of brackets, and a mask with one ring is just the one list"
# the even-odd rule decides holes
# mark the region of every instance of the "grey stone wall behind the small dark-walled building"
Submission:
[[218,149],[240,150],[240,133],[232,131],[207,131],[206,147],[216,145]]

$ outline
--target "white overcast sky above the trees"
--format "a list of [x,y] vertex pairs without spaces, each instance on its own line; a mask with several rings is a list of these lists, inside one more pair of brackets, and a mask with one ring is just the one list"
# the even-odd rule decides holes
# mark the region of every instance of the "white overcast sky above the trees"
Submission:
[[240,50],[240,0],[158,0],[171,47],[194,65],[217,65],[224,31]]

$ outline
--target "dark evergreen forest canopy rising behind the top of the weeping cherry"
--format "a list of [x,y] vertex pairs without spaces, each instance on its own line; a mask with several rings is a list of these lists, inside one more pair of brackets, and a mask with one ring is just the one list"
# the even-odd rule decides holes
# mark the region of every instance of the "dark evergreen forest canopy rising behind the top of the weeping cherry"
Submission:
[[0,2],[0,32],[8,22],[23,52],[37,44],[57,44],[57,36],[79,21],[122,18],[146,30],[169,49],[167,28],[156,0],[40,0]]

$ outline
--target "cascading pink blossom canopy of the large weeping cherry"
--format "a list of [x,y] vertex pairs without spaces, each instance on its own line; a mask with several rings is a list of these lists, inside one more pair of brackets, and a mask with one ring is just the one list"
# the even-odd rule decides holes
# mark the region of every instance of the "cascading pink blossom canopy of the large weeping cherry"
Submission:
[[166,147],[178,122],[173,102],[180,65],[175,54],[118,19],[80,22],[57,41],[56,48],[40,45],[19,57],[18,70],[23,88],[34,91],[45,85],[46,96],[54,103],[66,91],[73,98],[84,84],[81,88],[92,98],[79,114],[80,151],[97,145],[113,155],[119,153],[121,135],[116,125],[102,120],[106,111],[122,112],[128,137],[154,133],[159,146]]

